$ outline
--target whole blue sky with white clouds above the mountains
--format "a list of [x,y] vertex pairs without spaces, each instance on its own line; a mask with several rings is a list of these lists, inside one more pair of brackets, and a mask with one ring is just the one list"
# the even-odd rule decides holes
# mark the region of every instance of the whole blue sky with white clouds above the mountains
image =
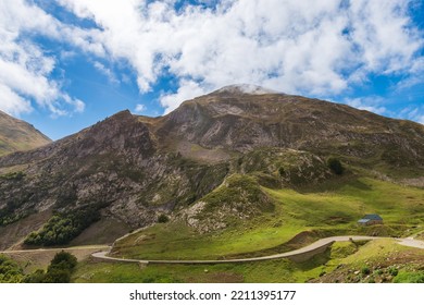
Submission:
[[0,110],[59,139],[254,84],[424,124],[423,32],[423,0],[0,0]]

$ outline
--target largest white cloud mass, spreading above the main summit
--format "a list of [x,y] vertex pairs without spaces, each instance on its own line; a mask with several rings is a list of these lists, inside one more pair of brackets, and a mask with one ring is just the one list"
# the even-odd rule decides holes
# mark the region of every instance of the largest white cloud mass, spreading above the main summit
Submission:
[[408,17],[410,1],[60,0],[102,28],[97,36],[113,59],[137,72],[141,93],[171,73],[166,111],[184,99],[233,83],[287,93],[339,94],[370,73],[410,73],[423,46]]

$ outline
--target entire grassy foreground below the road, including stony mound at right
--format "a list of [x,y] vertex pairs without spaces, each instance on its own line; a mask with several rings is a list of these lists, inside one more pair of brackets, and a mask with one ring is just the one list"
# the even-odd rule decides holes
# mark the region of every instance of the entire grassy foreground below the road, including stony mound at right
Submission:
[[[339,242],[305,263],[276,259],[223,265],[83,261],[74,282],[423,282],[422,249],[391,240]],[[384,260],[382,260],[382,255]]]

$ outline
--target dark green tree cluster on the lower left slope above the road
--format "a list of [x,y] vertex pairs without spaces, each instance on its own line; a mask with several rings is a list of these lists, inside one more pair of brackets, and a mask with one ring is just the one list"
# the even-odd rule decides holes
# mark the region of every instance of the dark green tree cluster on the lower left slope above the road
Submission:
[[24,241],[26,245],[63,245],[75,239],[91,223],[100,219],[96,207],[85,207],[66,213],[57,213],[37,232]]

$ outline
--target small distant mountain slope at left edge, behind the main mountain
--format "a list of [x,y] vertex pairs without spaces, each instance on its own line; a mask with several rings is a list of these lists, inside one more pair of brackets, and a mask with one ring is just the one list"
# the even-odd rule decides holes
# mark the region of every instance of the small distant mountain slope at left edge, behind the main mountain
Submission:
[[51,143],[33,125],[0,111],[0,156],[17,150],[29,150]]

